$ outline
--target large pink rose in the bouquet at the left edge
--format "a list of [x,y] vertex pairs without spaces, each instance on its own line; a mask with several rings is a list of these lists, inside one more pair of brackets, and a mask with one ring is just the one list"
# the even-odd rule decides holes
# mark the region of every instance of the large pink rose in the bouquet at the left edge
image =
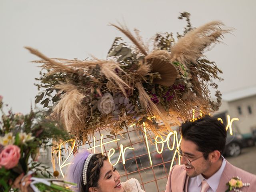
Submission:
[[0,167],[14,168],[20,159],[20,148],[16,145],[6,146],[0,153]]

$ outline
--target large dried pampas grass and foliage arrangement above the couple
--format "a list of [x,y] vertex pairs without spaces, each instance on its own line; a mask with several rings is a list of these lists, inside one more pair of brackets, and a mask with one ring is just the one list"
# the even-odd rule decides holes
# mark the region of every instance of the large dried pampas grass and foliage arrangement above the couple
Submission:
[[[157,33],[152,46],[145,46],[135,30],[114,26],[133,46],[115,38],[106,60],[48,58],[30,47],[42,60],[36,103],[48,107],[51,117],[60,120],[78,140],[87,140],[97,129],[116,134],[131,124],[154,133],[170,131],[170,126],[191,119],[192,111],[208,114],[218,110],[221,93],[214,79],[222,71],[204,57],[204,50],[220,42],[230,32],[224,24],[212,21],[192,28],[190,14],[184,34]],[[216,100],[208,86],[216,89]],[[164,122],[160,124],[159,122]]]

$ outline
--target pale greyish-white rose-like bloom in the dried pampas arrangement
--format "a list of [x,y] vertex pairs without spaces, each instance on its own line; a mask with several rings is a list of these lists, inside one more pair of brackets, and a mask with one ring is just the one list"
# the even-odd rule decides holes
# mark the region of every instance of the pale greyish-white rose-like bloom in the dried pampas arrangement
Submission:
[[105,93],[98,102],[98,110],[101,114],[109,114],[115,109],[113,97],[110,93]]

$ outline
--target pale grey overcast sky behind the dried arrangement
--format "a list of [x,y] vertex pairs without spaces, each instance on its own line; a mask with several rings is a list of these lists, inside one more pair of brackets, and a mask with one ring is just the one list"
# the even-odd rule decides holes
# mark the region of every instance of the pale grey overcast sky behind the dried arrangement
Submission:
[[148,40],[156,32],[182,32],[186,22],[177,17],[184,11],[194,27],[222,20],[236,28],[206,52],[224,72],[220,90],[255,86],[255,7],[255,0],[0,0],[0,95],[15,112],[34,105],[40,68],[23,46],[48,57],[104,59],[114,37],[123,36],[109,22],[125,21]]

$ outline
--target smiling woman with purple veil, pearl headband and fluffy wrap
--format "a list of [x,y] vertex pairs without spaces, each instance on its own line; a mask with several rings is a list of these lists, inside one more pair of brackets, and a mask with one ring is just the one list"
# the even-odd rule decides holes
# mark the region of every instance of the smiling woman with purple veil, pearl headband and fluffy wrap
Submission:
[[72,188],[76,192],[144,192],[134,178],[121,183],[120,174],[107,156],[88,151],[74,156],[65,180],[77,184]]

